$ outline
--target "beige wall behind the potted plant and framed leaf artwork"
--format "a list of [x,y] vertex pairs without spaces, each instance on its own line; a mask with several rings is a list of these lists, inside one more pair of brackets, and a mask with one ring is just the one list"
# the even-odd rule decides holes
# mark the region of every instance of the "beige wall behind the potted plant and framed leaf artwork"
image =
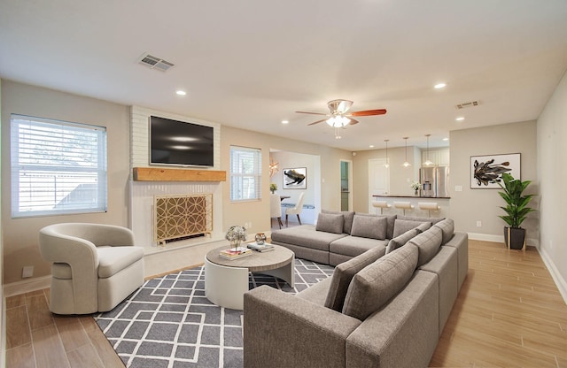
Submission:
[[[451,153],[451,217],[455,228],[469,233],[472,239],[504,242],[503,227],[498,216],[505,214],[500,206],[504,201],[498,194],[500,189],[470,188],[470,157],[508,153],[521,154],[521,179],[532,180],[526,193],[539,193],[536,167],[536,122],[502,124],[450,132]],[[457,191],[455,187],[462,187]],[[537,209],[539,196],[532,200],[531,207]],[[528,245],[539,242],[539,211],[532,212],[524,221]],[[482,226],[477,226],[480,221]]]

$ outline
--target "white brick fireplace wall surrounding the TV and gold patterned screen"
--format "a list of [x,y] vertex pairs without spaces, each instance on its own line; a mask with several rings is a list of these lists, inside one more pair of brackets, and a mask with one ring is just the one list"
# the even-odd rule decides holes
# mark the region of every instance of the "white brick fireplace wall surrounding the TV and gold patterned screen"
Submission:
[[[136,244],[155,249],[153,242],[153,196],[179,195],[179,194],[213,194],[213,234],[212,239],[218,240],[222,233],[222,190],[221,182],[209,181],[134,181],[132,168],[134,167],[160,167],[149,165],[149,118],[151,115],[188,121],[204,126],[214,127],[214,167],[211,170],[220,170],[221,165],[221,125],[199,119],[191,119],[164,111],[156,111],[140,106],[132,106],[130,111],[130,228],[134,232]],[[161,166],[172,168],[171,166]],[[190,168],[190,167],[188,167]],[[206,168],[195,167],[198,170]],[[207,236],[204,241],[210,238]],[[166,246],[167,248],[167,246]]]

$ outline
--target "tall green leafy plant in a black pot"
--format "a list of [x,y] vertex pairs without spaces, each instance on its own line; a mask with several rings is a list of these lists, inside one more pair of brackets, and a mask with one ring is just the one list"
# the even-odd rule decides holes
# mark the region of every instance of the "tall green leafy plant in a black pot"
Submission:
[[506,211],[506,215],[499,216],[503,219],[508,226],[504,226],[504,242],[510,249],[522,249],[525,244],[525,229],[520,227],[527,214],[535,211],[527,204],[532,200],[534,195],[523,195],[524,189],[532,181],[530,180],[517,180],[509,173],[502,173],[501,181],[498,185],[503,189],[498,194],[506,201],[506,207],[501,207]]

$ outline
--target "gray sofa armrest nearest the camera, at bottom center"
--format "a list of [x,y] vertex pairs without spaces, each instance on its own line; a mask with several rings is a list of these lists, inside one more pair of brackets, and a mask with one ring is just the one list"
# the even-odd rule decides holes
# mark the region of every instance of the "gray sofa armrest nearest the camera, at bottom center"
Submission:
[[245,293],[245,367],[345,367],[361,321],[275,288]]

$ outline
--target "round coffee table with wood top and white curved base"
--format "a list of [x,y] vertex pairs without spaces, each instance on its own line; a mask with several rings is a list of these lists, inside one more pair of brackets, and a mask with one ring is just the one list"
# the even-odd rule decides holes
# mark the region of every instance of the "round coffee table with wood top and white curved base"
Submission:
[[205,296],[221,307],[242,311],[248,291],[248,272],[275,276],[295,286],[295,254],[285,247],[274,245],[268,252],[253,251],[250,256],[225,259],[222,249],[213,249],[205,257]]

